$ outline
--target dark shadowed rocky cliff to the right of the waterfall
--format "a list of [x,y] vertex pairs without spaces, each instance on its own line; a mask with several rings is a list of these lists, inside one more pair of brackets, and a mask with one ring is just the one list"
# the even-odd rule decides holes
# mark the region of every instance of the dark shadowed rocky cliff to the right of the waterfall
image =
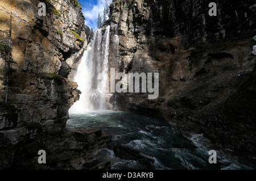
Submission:
[[217,16],[210,1],[112,3],[107,23],[112,33],[118,24],[119,57],[110,56],[110,68],[160,74],[158,99],[119,94],[118,102],[255,156],[255,1],[215,2]]

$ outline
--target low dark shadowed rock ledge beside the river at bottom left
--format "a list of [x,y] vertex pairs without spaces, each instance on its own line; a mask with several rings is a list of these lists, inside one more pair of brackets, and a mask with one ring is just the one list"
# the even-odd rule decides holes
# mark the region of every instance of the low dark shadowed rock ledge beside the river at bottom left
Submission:
[[[11,169],[108,169],[111,164],[109,162],[100,163],[94,152],[105,146],[102,143],[109,143],[111,137],[110,134],[102,134],[98,128],[64,129],[57,136],[35,137],[36,141],[27,143],[22,148],[19,148],[18,145],[11,147],[10,144],[11,151],[19,149],[19,152],[6,158],[4,156],[7,153],[2,152],[0,159],[4,159],[4,162],[1,166],[2,168],[10,167],[10,163],[6,162],[11,160],[13,162]],[[46,164],[38,163],[38,149],[46,151]]]

